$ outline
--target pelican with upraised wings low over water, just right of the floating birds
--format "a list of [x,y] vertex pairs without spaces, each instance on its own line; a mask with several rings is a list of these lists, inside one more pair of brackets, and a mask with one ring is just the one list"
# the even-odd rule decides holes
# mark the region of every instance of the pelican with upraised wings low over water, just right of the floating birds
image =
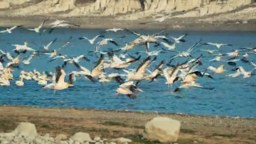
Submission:
[[55,79],[55,84],[54,84],[54,91],[56,90],[64,90],[68,88],[69,86],[74,86],[72,84],[69,84],[64,81],[66,73],[61,67],[56,67],[56,79]]

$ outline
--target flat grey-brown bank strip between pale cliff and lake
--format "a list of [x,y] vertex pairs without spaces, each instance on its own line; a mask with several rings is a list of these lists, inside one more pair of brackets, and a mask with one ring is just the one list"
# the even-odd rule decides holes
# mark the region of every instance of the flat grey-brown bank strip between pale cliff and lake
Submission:
[[[41,24],[41,21],[48,19],[43,16],[33,17],[6,17],[0,16],[2,19],[0,27],[12,27],[14,25],[23,25],[24,27],[37,27]],[[195,20],[196,19],[196,20]],[[256,32],[256,20],[248,20],[247,24],[243,24],[243,21],[216,21],[216,22],[200,22],[198,18],[173,18],[163,22],[154,22],[149,24],[139,24],[144,22],[143,20],[116,20],[113,17],[74,17],[64,18],[62,20],[71,21],[75,24],[80,24],[78,28],[81,29],[108,29],[108,28],[128,28],[128,29],[167,29],[175,31],[205,31],[205,32],[217,32],[217,31],[244,31],[244,32]],[[50,21],[55,19],[48,19],[46,25]],[[102,24],[104,21],[104,24]],[[236,24],[239,22],[239,24]],[[77,27],[72,27],[77,28]]]

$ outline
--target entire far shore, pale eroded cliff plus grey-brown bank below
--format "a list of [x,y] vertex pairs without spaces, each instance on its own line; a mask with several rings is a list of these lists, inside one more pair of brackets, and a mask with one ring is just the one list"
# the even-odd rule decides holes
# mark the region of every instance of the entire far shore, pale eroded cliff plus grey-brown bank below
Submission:
[[0,17],[0,27],[64,19],[81,28],[256,31],[255,0],[2,0]]

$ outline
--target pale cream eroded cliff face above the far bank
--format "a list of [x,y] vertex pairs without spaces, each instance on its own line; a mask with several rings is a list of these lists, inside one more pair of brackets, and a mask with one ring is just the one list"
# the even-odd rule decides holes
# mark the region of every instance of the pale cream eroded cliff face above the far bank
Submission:
[[[116,19],[136,20],[157,14],[173,17],[202,17],[255,6],[256,0],[0,0],[1,16],[116,16]],[[78,3],[78,4],[77,4]],[[18,7],[15,7],[19,5]],[[255,17],[255,11],[245,12]],[[243,16],[242,16],[243,17]]]

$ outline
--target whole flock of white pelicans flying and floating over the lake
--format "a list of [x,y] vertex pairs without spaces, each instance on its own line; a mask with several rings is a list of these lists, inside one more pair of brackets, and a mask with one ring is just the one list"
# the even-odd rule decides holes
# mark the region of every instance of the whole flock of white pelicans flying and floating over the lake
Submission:
[[[45,21],[43,21],[39,27],[28,30],[40,33]],[[79,27],[79,25],[72,24],[68,21],[56,20],[49,24],[49,26],[51,26],[49,33],[52,33],[53,30],[58,27],[70,27],[72,25]],[[18,27],[22,26],[8,28],[0,31],[0,34],[11,33]],[[24,79],[35,80],[37,81],[37,84],[43,85],[44,89],[51,88],[55,92],[74,86],[76,78],[83,76],[85,80],[91,80],[93,83],[107,83],[115,81],[119,83],[115,96],[123,94],[127,95],[130,99],[135,99],[136,93],[143,92],[143,90],[139,88],[142,80],[153,83],[159,78],[164,78],[166,81],[165,84],[167,84],[168,87],[173,87],[174,83],[181,81],[181,84],[174,88],[174,92],[192,87],[212,90],[213,88],[206,88],[199,83],[196,83],[196,80],[198,77],[213,79],[213,73],[216,75],[226,72],[227,70],[224,69],[224,64],[221,64],[216,68],[212,66],[205,67],[201,61],[203,59],[203,55],[201,54],[199,57],[193,58],[192,51],[206,52],[216,56],[214,59],[210,60],[211,62],[222,61],[223,63],[227,63],[233,68],[231,72],[227,74],[227,77],[238,77],[243,75],[244,78],[249,78],[252,75],[255,75],[256,64],[254,64],[253,61],[248,60],[248,57],[249,55],[256,54],[256,48],[240,48],[240,50],[231,51],[229,53],[215,54],[222,46],[232,45],[202,43],[202,40],[199,40],[188,48],[187,51],[176,51],[176,45],[186,42],[185,38],[187,37],[187,34],[180,37],[168,37],[168,35],[163,35],[165,30],[152,35],[146,35],[130,31],[129,29],[115,28],[107,29],[105,32],[119,32],[123,30],[130,32],[135,36],[135,38],[133,41],[126,43],[122,48],[119,47],[116,40],[113,38],[105,38],[104,35],[96,35],[91,39],[87,37],[79,38],[80,40],[87,40],[88,43],[94,46],[94,51],[90,51],[90,53],[92,53],[93,56],[96,56],[98,61],[91,70],[80,64],[80,61],[83,60],[90,62],[90,59],[87,56],[80,55],[77,57],[69,57],[67,54],[60,53],[61,48],[66,47],[71,42],[72,37],[70,37],[64,45],[52,50],[50,50],[51,45],[56,41],[56,39],[43,46],[40,50],[35,50],[34,48],[29,47],[26,42],[24,45],[12,45],[15,47],[12,52],[0,50],[0,85],[9,86],[9,80],[14,80],[12,75],[13,68],[19,68],[20,64],[29,65],[32,59],[39,56],[49,56],[51,60],[48,62],[56,59],[62,59],[63,64],[56,67],[56,73],[46,71],[40,73],[36,69],[34,69],[33,72],[22,70],[19,76],[20,79],[16,81],[16,85],[23,86]],[[125,36],[118,37],[118,39],[123,38],[125,38]],[[99,41],[96,43],[97,40]],[[108,51],[102,51],[104,45],[107,45],[108,43],[112,43],[116,48],[108,49]],[[216,49],[199,49],[202,45],[215,45]],[[150,46],[152,48],[149,48]],[[143,47],[145,51],[136,51],[138,47]],[[149,51],[149,49],[158,50]],[[135,54],[129,54],[131,50],[136,51],[136,56],[134,56]],[[150,71],[149,67],[152,67],[152,64],[156,63],[155,61],[159,53],[167,53],[166,56],[168,56],[170,60],[160,61],[159,64],[156,64],[154,70]],[[170,53],[174,54],[170,55]],[[14,54],[16,54],[16,57],[13,57]],[[145,59],[141,59],[142,54],[147,57]],[[28,58],[21,60],[22,55]],[[173,60],[179,57],[187,59],[181,63],[174,64]],[[251,70],[246,71],[243,67],[237,67],[236,61],[242,61],[245,64],[250,64],[252,67]],[[3,66],[4,63],[6,63],[5,67]],[[135,63],[139,63],[139,66],[135,69],[131,69],[131,65],[135,66]],[[69,72],[69,82],[65,81],[66,72],[64,69],[67,64],[74,65],[74,69],[76,69],[76,71],[74,70]],[[199,67],[200,70],[198,69]]]

